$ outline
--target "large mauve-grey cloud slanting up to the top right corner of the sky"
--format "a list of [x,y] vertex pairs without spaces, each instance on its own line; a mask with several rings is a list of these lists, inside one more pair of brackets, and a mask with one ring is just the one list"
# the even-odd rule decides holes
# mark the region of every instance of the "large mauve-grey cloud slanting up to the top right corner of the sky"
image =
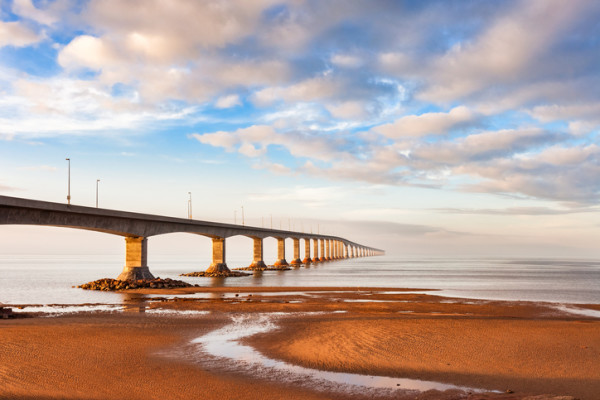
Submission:
[[[483,88],[535,74],[533,65],[555,39],[584,15],[584,1],[526,0],[475,40],[457,43],[433,61],[423,100],[450,102]],[[536,26],[536,29],[531,29]]]

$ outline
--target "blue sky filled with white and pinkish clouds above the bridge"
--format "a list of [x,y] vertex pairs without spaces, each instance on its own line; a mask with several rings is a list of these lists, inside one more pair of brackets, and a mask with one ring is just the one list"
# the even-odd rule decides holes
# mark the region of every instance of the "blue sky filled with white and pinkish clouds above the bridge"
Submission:
[[[0,0],[0,195],[66,202],[70,158],[73,204],[98,184],[185,218],[191,193],[196,219],[393,255],[598,258],[598,21],[595,0]],[[0,251],[106,236],[5,226]]]

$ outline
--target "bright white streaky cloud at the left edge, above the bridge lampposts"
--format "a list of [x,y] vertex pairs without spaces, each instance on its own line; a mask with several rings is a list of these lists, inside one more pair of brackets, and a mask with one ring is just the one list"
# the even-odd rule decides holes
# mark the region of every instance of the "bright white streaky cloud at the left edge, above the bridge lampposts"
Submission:
[[133,133],[156,128],[160,121],[180,120],[193,107],[144,108],[130,98],[114,98],[110,88],[67,78],[15,78],[12,94],[0,100],[0,126],[14,137]]

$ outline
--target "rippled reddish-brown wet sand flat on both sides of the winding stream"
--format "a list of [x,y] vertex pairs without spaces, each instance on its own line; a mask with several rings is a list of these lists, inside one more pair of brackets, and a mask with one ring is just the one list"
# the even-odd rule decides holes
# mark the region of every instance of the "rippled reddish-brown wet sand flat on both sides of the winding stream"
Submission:
[[[224,371],[221,364],[226,361],[202,362],[190,344],[227,324],[232,315],[269,312],[283,313],[277,319],[279,329],[246,342],[272,358],[322,370],[514,392],[382,392],[377,398],[599,398],[599,319],[565,314],[547,304],[448,299],[435,292],[295,290],[195,288],[213,297],[167,296],[189,293],[187,289],[154,291],[164,297],[140,299],[141,293],[151,293],[144,290],[127,302],[133,310],[210,311],[189,317],[123,312],[0,320],[0,399],[373,396],[366,391],[312,390]],[[324,313],[295,314],[314,311]]]

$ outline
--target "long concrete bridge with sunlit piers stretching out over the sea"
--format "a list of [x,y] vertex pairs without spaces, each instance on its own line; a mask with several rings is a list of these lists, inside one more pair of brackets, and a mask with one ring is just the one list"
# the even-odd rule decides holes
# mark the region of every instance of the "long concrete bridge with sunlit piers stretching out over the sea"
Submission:
[[[263,239],[269,237],[277,240],[277,261],[274,264],[276,267],[384,254],[383,250],[337,236],[139,214],[8,196],[0,196],[0,225],[55,226],[123,236],[125,267],[118,277],[121,280],[153,279],[154,276],[148,268],[148,238],[175,232],[212,238],[212,264],[206,270],[207,273],[229,271],[225,259],[225,240],[238,235],[253,240],[254,258],[250,267],[256,269],[266,267],[263,260]],[[286,239],[292,239],[294,244],[294,255],[289,264],[285,258]],[[300,258],[300,239],[304,241],[304,259]]]

